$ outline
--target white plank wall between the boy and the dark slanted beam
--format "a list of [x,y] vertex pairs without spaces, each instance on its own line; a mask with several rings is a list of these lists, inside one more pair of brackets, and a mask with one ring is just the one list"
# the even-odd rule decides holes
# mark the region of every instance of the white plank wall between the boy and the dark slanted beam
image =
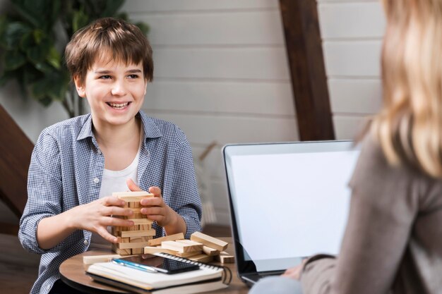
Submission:
[[217,219],[229,223],[221,147],[298,140],[277,0],[128,0],[151,27],[154,82],[144,110],[177,123],[205,159]]

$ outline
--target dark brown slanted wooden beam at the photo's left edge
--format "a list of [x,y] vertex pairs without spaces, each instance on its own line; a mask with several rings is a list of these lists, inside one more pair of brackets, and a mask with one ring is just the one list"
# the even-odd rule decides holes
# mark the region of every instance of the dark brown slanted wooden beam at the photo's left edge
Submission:
[[20,217],[28,200],[26,189],[34,145],[0,105],[0,200]]

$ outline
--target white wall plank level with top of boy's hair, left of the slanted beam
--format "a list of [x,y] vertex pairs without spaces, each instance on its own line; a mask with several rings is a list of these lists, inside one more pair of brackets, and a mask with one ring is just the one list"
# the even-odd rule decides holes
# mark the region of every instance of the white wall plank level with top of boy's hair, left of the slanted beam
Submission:
[[137,14],[132,19],[149,24],[149,39],[155,46],[284,44],[280,12],[277,10]]

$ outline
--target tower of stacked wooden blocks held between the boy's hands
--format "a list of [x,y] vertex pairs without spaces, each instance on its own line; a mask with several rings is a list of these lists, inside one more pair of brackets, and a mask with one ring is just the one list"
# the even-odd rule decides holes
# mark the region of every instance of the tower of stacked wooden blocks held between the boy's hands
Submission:
[[114,216],[121,219],[133,221],[133,226],[113,226],[112,235],[119,237],[119,243],[112,244],[112,250],[119,255],[143,254],[143,248],[148,246],[148,240],[155,236],[155,229],[152,228],[153,221],[140,212],[140,201],[144,198],[153,197],[148,192],[114,192],[112,196],[126,201],[124,208],[130,208],[133,214],[128,216]]

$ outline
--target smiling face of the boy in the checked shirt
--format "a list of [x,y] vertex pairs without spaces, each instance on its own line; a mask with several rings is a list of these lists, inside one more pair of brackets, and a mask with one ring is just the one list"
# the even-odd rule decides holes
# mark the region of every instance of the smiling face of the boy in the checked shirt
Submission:
[[147,80],[143,64],[97,59],[82,83],[74,78],[78,95],[88,99],[95,127],[131,123],[143,105]]

